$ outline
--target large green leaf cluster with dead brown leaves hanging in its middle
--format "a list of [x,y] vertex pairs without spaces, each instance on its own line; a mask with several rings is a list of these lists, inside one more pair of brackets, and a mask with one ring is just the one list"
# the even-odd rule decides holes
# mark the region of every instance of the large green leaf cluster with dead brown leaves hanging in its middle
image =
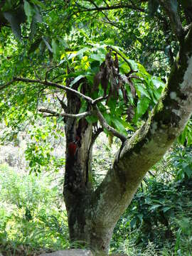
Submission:
[[[79,82],[78,90],[82,90],[81,81],[86,78],[90,87],[86,94],[92,98],[107,95],[107,102],[99,105],[100,111],[108,124],[127,134],[126,129],[133,129],[130,123],[137,124],[159,100],[164,82],[151,77],[141,64],[127,58],[122,49],[110,48],[113,50],[108,52],[105,44],[88,43],[78,51],[63,53],[61,62],[68,58],[68,64],[74,68],[74,72],[65,75],[73,78],[70,86]],[[85,110],[87,104],[82,102],[80,112]],[[96,120],[87,117],[87,121]]]

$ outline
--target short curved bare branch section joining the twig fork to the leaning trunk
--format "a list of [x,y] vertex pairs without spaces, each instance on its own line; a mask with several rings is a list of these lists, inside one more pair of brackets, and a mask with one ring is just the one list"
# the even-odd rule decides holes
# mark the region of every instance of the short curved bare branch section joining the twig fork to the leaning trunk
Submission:
[[93,110],[95,111],[95,114],[97,115],[102,128],[107,129],[108,132],[111,132],[115,137],[121,139],[122,142],[127,140],[127,138],[123,134],[120,134],[114,128],[110,127],[109,124],[107,124],[105,118],[102,116],[102,113],[98,109],[97,105],[93,106]]

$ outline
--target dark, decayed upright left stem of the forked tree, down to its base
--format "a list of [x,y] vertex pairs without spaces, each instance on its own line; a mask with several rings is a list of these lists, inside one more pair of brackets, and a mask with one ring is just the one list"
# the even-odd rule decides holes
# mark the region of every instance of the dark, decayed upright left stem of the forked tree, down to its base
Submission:
[[[77,114],[80,100],[67,94],[68,113]],[[95,193],[89,181],[92,163],[92,144],[100,129],[92,133],[92,124],[85,119],[65,120],[66,158],[63,196],[68,212],[70,240],[95,251],[107,252],[115,223],[110,228],[102,222],[95,222]],[[71,147],[77,146],[74,151]],[[103,209],[105,211],[105,208]]]

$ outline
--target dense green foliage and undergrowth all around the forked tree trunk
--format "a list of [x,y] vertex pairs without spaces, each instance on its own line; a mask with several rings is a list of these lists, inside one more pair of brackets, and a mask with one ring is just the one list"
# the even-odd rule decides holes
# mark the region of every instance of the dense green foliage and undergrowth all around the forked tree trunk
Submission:
[[[177,9],[186,33],[191,1],[171,1]],[[109,140],[105,154],[96,145],[90,179],[97,188],[110,169],[112,143],[120,146],[114,136],[132,137],[165,90],[179,49],[165,13],[157,0],[1,1],[0,142],[19,146],[25,132],[31,173],[1,166],[0,250],[7,255],[76,246],[60,189],[43,176],[65,166],[65,149],[56,156],[55,148],[65,144],[68,92],[80,99],[78,112],[67,114],[80,114],[78,122],[85,117],[95,135],[105,132]],[[112,251],[191,255],[191,143],[190,119],[117,223]]]

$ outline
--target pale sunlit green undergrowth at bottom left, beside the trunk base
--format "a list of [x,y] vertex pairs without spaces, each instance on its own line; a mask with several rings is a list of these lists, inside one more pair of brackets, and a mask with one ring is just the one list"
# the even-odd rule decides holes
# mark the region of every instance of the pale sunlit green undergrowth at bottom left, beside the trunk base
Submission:
[[1,165],[0,188],[0,250],[5,255],[69,246],[66,211],[50,178],[16,174]]

